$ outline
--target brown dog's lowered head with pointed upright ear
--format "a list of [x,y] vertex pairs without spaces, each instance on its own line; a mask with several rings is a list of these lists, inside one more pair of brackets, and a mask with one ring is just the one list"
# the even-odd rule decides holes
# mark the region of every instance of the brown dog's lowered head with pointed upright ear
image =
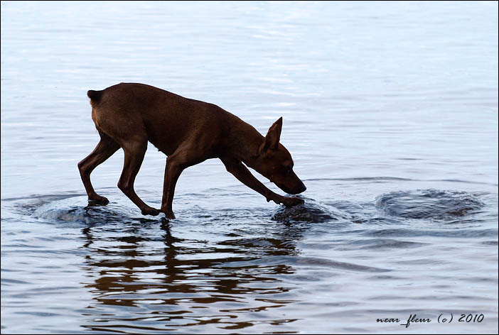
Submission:
[[284,192],[299,194],[304,192],[306,187],[293,171],[291,154],[279,143],[281,130],[282,117],[270,126],[267,136],[259,146],[258,157],[253,167]]

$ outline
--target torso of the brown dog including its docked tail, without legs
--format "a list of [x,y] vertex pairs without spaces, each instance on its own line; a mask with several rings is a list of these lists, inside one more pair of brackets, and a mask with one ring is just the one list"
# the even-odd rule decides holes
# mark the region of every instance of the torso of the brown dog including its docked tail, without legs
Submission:
[[214,104],[146,84],[121,83],[87,95],[97,129],[120,145],[130,136],[145,136],[166,155],[186,141],[202,143],[209,152],[227,135],[227,119],[235,117]]

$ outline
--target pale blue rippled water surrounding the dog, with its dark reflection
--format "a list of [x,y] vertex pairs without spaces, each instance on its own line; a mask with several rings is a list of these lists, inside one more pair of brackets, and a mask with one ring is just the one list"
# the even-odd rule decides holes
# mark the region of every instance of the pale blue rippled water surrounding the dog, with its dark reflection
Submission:
[[[306,203],[208,160],[141,216],[119,150],[88,206],[86,92],[119,82],[283,116]],[[497,2],[2,2],[1,331],[497,333]]]

